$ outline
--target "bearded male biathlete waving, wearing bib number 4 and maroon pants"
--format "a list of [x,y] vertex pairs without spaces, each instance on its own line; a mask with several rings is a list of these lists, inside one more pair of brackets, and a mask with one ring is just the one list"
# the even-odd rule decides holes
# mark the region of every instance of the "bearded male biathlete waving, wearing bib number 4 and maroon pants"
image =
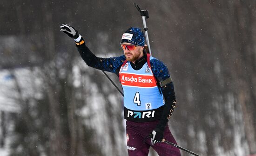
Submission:
[[[124,55],[99,58],[89,50],[74,27],[62,24],[60,28],[75,40],[88,66],[113,72],[119,77],[124,94],[128,155],[148,156],[152,147],[159,156],[181,156],[179,149],[162,143],[164,138],[177,144],[168,127],[176,106],[174,84],[167,67],[143,51],[145,38],[141,29],[130,27],[123,33]],[[151,139],[148,136],[152,136]]]

